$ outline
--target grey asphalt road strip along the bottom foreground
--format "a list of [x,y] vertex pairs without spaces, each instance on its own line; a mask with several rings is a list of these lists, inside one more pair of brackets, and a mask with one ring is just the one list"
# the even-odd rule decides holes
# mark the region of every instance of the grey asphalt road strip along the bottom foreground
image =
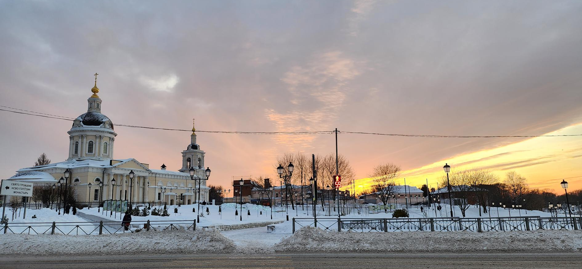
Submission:
[[0,268],[580,268],[582,253],[504,254],[196,254],[112,257],[0,257]]

